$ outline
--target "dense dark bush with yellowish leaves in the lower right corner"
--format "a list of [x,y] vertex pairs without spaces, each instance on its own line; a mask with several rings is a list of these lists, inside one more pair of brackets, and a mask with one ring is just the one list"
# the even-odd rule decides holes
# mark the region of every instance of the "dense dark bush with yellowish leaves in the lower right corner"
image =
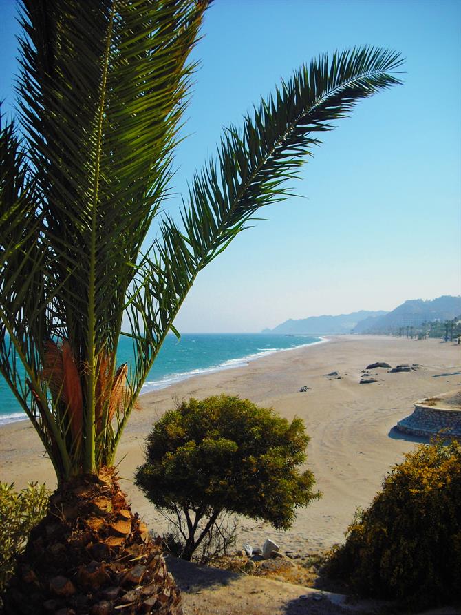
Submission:
[[461,445],[405,455],[346,536],[327,572],[358,592],[412,607],[461,598]]

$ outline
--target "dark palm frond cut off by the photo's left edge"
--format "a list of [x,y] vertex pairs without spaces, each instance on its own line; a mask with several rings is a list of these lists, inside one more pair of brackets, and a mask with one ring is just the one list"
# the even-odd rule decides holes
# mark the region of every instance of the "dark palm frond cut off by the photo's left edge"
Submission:
[[[47,249],[41,241],[37,189],[23,145],[12,123],[0,116],[0,373],[38,432],[56,473],[68,470],[69,456],[47,406],[39,369],[45,335]],[[23,369],[21,369],[21,366]],[[25,371],[25,375],[24,375]]]

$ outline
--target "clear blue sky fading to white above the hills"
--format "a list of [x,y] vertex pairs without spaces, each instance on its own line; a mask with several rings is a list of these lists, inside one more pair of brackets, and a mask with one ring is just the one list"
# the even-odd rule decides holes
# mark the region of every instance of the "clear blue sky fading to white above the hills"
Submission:
[[[14,1],[0,0],[0,98],[13,102]],[[222,127],[321,52],[382,45],[405,85],[361,103],[292,185],[203,271],[176,321],[259,331],[289,317],[391,310],[461,293],[461,2],[217,0],[178,147],[175,189],[215,152]],[[166,209],[174,211],[179,199]]]

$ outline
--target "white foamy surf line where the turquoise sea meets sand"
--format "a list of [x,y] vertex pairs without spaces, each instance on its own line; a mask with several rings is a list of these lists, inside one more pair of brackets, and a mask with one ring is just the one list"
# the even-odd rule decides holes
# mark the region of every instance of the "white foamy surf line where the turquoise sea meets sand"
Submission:
[[[193,334],[195,335],[195,334]],[[208,335],[208,334],[205,334]],[[219,334],[221,335],[221,334]],[[229,335],[242,335],[242,333],[229,333]],[[248,335],[257,335],[256,333],[249,333]],[[285,334],[281,334],[285,335]],[[299,334],[304,335],[304,334]],[[305,334],[308,335],[307,333]],[[309,344],[299,344],[299,346],[292,346],[292,348],[275,348],[274,350],[261,351],[260,353],[254,353],[252,355],[246,355],[244,357],[236,357],[235,359],[227,359],[223,363],[219,363],[216,366],[211,366],[208,368],[202,368],[191,372],[184,372],[178,374],[167,374],[164,377],[164,380],[153,380],[151,382],[144,382],[142,385],[141,393],[139,397],[143,395],[149,395],[149,393],[154,393],[157,390],[163,390],[164,388],[169,388],[169,386],[174,386],[179,382],[184,382],[184,380],[188,380],[189,378],[200,377],[207,374],[216,373],[219,371],[224,371],[228,369],[236,369],[239,367],[245,367],[250,364],[250,362],[257,361],[259,359],[264,359],[270,355],[275,353],[283,353],[288,351],[295,351],[299,348],[305,348],[306,346],[317,346],[317,344],[325,344],[325,342],[329,342],[330,340],[324,335],[312,335],[312,337],[319,337],[318,342],[310,342]],[[149,390],[143,390],[144,388],[150,387]],[[15,412],[10,415],[0,415],[0,429],[3,426],[11,425],[14,423],[19,423],[20,421],[28,421],[29,418],[25,413]]]

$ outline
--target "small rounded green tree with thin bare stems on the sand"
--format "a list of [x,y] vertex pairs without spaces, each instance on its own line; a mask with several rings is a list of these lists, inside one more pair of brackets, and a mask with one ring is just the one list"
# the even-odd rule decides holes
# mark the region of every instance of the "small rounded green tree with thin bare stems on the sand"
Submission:
[[301,419],[248,399],[189,399],[153,426],[136,484],[175,515],[190,559],[223,511],[290,528],[295,509],[319,497],[312,472],[298,470],[308,441]]

